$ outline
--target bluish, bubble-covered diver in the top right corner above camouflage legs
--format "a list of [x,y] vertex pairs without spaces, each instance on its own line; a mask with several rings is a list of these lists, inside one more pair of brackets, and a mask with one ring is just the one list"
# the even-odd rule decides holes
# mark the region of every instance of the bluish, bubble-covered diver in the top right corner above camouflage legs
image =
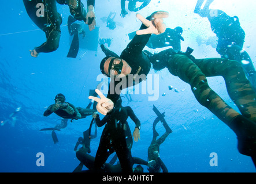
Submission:
[[208,18],[213,32],[218,37],[216,51],[221,55],[221,58],[241,62],[247,78],[256,89],[256,71],[251,57],[243,50],[246,34],[240,26],[239,18],[228,16],[221,10],[209,9],[213,1],[207,0],[203,9],[201,9],[204,0],[198,0],[194,13]]

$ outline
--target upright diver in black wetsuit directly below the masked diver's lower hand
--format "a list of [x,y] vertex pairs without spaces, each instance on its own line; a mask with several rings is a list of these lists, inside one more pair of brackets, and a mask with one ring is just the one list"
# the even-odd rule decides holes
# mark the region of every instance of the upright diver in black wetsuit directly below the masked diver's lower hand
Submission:
[[136,127],[133,131],[135,141],[140,139],[140,121],[135,116],[131,107],[123,107],[121,103],[122,100],[119,98],[116,108],[111,115],[106,115],[102,120],[99,119],[98,115],[95,119],[98,127],[102,127],[107,123],[102,132],[98,151],[95,156],[95,171],[97,172],[100,171],[103,163],[106,162],[114,150],[120,160],[123,173],[132,173],[132,140],[127,139],[127,135],[131,134],[127,124],[127,118],[130,117],[135,122]]

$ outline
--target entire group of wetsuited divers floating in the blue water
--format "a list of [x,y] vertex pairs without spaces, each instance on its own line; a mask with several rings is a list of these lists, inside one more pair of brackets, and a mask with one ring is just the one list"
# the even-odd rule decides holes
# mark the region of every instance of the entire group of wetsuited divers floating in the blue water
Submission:
[[[23,2],[28,16],[46,33],[46,42],[30,50],[33,57],[38,57],[40,52],[53,52],[58,48],[62,18],[57,11],[56,2],[69,6],[71,16],[68,18],[68,28],[71,35],[74,34],[77,37],[78,34],[85,34],[77,26],[79,24],[73,25],[75,21],[84,21],[90,30],[95,28],[95,0],[87,0],[87,11],[80,0],[23,0]],[[136,2],[142,2],[142,5],[136,7]],[[157,118],[153,122],[153,140],[148,148],[148,161],[132,157],[133,139],[135,141],[140,139],[140,120],[130,106],[122,106],[120,96],[121,90],[143,81],[139,76],[149,74],[151,64],[157,71],[168,68],[170,74],[178,76],[182,81],[188,83],[199,104],[209,109],[232,129],[238,138],[238,151],[240,154],[250,156],[256,166],[256,71],[250,56],[243,49],[245,33],[240,26],[239,18],[228,16],[221,10],[209,9],[212,2],[213,0],[198,0],[194,13],[209,20],[213,32],[218,37],[216,51],[220,54],[220,58],[196,59],[191,55],[193,49],[190,47],[185,52],[181,51],[181,41],[184,41],[181,36],[183,29],[180,26],[175,29],[165,27],[163,20],[169,16],[168,12],[155,11],[146,18],[137,13],[136,17],[142,22],[142,25],[136,32],[128,34],[131,41],[120,56],[101,44],[101,49],[106,55],[99,64],[102,74],[119,78],[117,81],[119,82],[121,79],[121,82],[125,81],[125,84],[117,88],[117,81],[111,80],[106,97],[100,91],[101,85],[96,90],[90,90],[88,98],[91,101],[87,108],[76,108],[75,105],[66,102],[64,94],[56,95],[55,104],[50,105],[43,115],[49,116],[51,113],[55,113],[63,118],[61,124],[54,128],[40,130],[52,131],[54,143],[58,142],[55,131],[65,128],[68,120],[78,120],[92,115],[89,128],[83,132],[83,137],[79,137],[75,146],[77,159],[81,163],[74,172],[142,173],[142,164],[147,166],[150,173],[158,173],[161,170],[168,172],[159,157],[159,145],[172,133],[172,129],[165,121],[165,113],[159,112],[153,106]],[[44,5],[44,16],[36,16],[38,3]],[[149,3],[150,0],[129,0],[128,9],[129,11],[138,11]],[[125,0],[121,0],[121,9],[120,16],[125,17],[128,13],[125,10]],[[109,17],[107,26],[114,29],[112,27],[114,25],[113,18]],[[168,46],[172,46],[172,48],[153,54],[145,50],[145,46],[151,49]],[[73,40],[68,57],[76,57],[76,55],[77,44],[76,40]],[[132,74],[132,80],[128,80],[129,74]],[[210,88],[207,76],[222,76],[224,78],[229,97],[235,102],[240,113],[231,108]],[[114,93],[112,93],[111,86],[115,89]],[[93,106],[92,109],[91,106]],[[99,118],[99,113],[105,115],[102,120]],[[133,135],[127,122],[128,117],[135,122]],[[157,139],[159,134],[155,127],[159,121],[164,126],[165,133]],[[103,125],[105,128],[94,157],[90,155],[90,141],[97,136],[97,127]],[[94,126],[95,132],[92,133],[91,130]],[[78,149],[80,144],[82,147]],[[109,163],[106,163],[107,158],[114,152],[116,155]],[[119,162],[114,164],[117,158]],[[133,164],[138,164],[138,166],[133,168]],[[86,166],[88,170],[82,171],[83,166]]]

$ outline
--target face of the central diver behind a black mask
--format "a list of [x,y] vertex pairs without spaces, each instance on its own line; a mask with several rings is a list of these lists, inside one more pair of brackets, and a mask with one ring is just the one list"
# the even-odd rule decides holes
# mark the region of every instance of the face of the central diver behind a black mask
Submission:
[[[112,69],[113,70],[110,70],[109,71],[109,64],[110,62],[112,63]],[[118,72],[114,66],[118,66],[120,65],[121,63],[123,63],[123,67],[120,68],[120,71]],[[105,64],[104,64],[104,71],[107,75],[110,76],[110,72],[111,72],[111,75],[114,75],[114,76],[117,76],[118,78],[121,78],[123,76],[126,76],[128,74],[131,73],[132,71],[132,68],[129,66],[129,64],[127,62],[125,62],[125,60],[123,59],[120,59],[118,57],[109,57]]]

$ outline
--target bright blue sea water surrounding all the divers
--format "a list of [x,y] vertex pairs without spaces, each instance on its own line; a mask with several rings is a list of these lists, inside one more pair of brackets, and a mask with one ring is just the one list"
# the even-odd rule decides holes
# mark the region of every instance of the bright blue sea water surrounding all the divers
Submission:
[[[195,0],[155,0],[140,10],[144,17],[156,10],[169,11],[165,19],[166,26],[184,29],[183,51],[190,46],[195,49],[193,55],[201,57],[219,57],[210,45],[199,45],[196,40],[206,40],[214,36],[209,22],[193,13]],[[60,117],[51,114],[43,117],[47,106],[54,103],[56,94],[63,93],[66,101],[75,106],[86,107],[90,89],[95,89],[100,81],[99,62],[104,57],[100,48],[90,51],[80,48],[76,59],[67,58],[70,37],[66,22],[69,10],[66,6],[57,5],[63,18],[60,47],[55,52],[40,53],[38,58],[31,57],[29,49],[45,41],[44,33],[31,21],[22,1],[3,1],[1,3],[0,30],[0,121],[6,122],[9,115],[18,107],[16,124],[6,122],[0,127],[0,172],[72,172],[80,163],[75,151],[78,137],[83,135],[90,124],[91,117],[69,122],[68,127],[57,132],[57,144],[53,143],[50,132],[39,132],[39,129],[53,127],[60,123]],[[231,16],[238,16],[246,32],[244,48],[255,61],[255,1],[214,1],[212,8],[224,10]],[[101,18],[107,17],[110,11],[116,11],[117,28],[106,28]],[[120,54],[129,43],[127,34],[138,30],[140,21],[135,13],[129,12],[121,18],[120,1],[97,1],[95,14],[99,27],[99,38],[111,38],[110,49]],[[255,63],[254,63],[255,65]],[[133,94],[133,101],[128,104],[124,98],[123,105],[129,105],[142,123],[140,140],[133,143],[132,155],[147,159],[147,148],[150,145],[153,131],[152,124],[156,115],[152,108],[165,112],[165,118],[173,130],[160,147],[160,156],[169,172],[255,172],[251,158],[239,154],[236,148],[236,136],[216,116],[203,108],[195,100],[190,86],[179,78],[169,74],[168,70],[150,74],[159,76],[159,98],[149,101],[147,94]],[[209,78],[209,83],[221,97],[233,108],[231,99],[225,90],[222,78]],[[169,90],[172,85],[179,90]],[[162,94],[166,95],[162,95]],[[103,116],[101,116],[102,118]],[[128,119],[131,130],[134,124]],[[98,137],[91,141],[91,155],[97,151],[103,128],[98,128]],[[164,128],[157,125],[159,135]],[[44,166],[37,166],[36,154],[44,154]],[[210,154],[217,154],[217,166],[210,166]],[[84,168],[86,169],[86,168]],[[144,171],[147,172],[146,167]]]

